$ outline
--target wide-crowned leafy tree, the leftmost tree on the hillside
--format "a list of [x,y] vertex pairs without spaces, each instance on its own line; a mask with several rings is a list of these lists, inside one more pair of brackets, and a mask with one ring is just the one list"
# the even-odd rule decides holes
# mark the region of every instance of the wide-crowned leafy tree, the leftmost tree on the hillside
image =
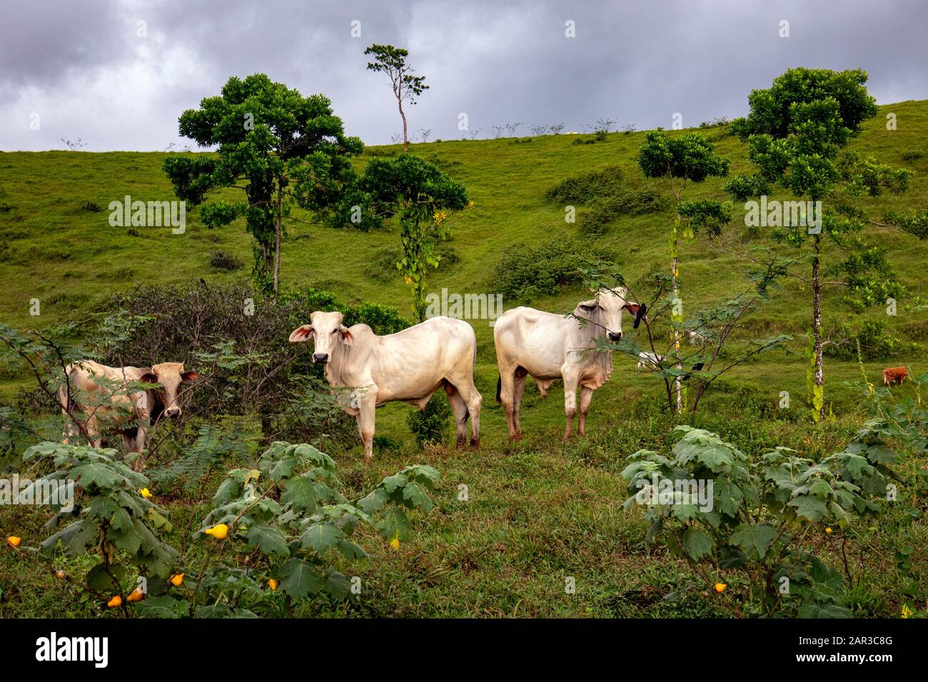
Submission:
[[220,95],[181,114],[179,127],[200,147],[218,147],[218,155],[170,155],[163,169],[174,192],[199,205],[215,189],[243,191],[240,201],[204,205],[201,217],[213,227],[244,215],[254,238],[254,277],[277,293],[284,219],[298,220],[290,214],[296,203],[316,222],[332,220],[331,207],[356,179],[350,158],[363,143],[344,134],[328,97],[303,97],[263,73],[233,76]]

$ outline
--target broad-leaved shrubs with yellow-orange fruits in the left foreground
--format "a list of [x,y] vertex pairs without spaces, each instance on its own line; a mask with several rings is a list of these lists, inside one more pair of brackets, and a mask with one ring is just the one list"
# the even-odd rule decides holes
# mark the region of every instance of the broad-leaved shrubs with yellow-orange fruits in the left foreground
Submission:
[[[193,552],[181,554],[161,539],[174,528],[167,511],[149,499],[148,478],[115,454],[42,443],[23,457],[55,470],[35,485],[67,479],[80,486],[70,509],[53,504],[57,513],[47,528],[63,528],[41,548],[98,557],[77,579],[58,571],[97,615],[109,602],[123,617],[281,617],[311,598],[351,598],[353,582],[333,564],[367,558],[355,531],[369,527],[399,547],[412,530],[406,511],[427,513],[438,481],[432,467],[406,467],[349,500],[339,492],[331,457],[309,444],[273,443],[254,468],[228,471],[193,534],[210,547],[196,553],[195,565]],[[24,549],[21,560],[43,562],[32,547]],[[268,588],[270,580],[277,582]]]

